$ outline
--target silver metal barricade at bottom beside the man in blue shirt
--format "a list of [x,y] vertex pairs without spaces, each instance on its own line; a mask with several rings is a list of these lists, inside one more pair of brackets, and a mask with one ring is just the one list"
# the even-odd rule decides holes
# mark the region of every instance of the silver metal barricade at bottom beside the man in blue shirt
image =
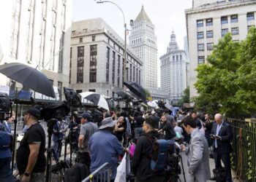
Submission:
[[91,173],[87,178],[85,178],[82,182],[94,181],[94,182],[110,182],[111,176],[111,166],[108,162],[99,167],[94,173]]

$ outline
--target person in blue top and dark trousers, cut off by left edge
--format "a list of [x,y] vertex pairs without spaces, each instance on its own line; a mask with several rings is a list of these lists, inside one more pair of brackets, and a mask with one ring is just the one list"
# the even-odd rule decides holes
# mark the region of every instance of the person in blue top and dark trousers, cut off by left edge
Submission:
[[10,151],[11,138],[8,132],[4,131],[3,124],[0,123],[0,181],[13,181],[10,164],[12,153]]

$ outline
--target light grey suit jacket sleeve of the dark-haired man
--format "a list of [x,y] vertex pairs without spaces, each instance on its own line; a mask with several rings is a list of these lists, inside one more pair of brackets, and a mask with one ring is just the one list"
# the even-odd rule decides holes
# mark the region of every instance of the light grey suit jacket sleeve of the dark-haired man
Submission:
[[193,153],[190,155],[189,172],[195,173],[197,167],[203,159],[203,141],[200,138],[193,138],[192,141]]

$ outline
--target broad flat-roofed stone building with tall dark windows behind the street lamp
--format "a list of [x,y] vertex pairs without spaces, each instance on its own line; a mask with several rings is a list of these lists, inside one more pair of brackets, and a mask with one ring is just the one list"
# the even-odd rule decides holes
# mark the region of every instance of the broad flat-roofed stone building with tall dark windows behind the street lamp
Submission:
[[126,67],[124,74],[124,40],[102,18],[72,23],[72,88],[113,97],[114,91],[124,88],[124,76],[125,80],[140,84],[143,63],[129,49]]

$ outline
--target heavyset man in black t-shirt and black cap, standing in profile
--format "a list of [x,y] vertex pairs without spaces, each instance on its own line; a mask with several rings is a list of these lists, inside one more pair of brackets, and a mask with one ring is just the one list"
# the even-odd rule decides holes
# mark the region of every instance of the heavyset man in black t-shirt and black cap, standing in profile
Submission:
[[16,154],[16,163],[20,173],[20,181],[45,181],[45,131],[38,123],[40,111],[30,108],[24,114],[27,131],[20,141]]

